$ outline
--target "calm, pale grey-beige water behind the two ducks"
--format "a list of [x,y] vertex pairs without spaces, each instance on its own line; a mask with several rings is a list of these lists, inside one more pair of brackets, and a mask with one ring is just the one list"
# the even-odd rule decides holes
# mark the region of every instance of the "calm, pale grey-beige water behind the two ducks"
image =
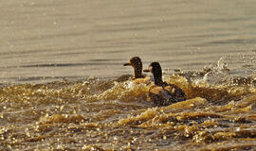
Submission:
[[255,69],[253,0],[0,3],[2,83],[121,76],[130,70],[120,64],[133,56],[158,60],[171,72],[200,70],[220,58],[233,76]]

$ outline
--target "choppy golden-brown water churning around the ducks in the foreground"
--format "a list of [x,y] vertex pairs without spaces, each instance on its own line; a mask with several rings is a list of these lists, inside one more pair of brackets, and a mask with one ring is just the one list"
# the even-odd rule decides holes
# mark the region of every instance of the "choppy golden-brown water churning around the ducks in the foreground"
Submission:
[[2,86],[0,148],[254,150],[253,78],[210,84],[204,72],[166,75],[188,96],[167,107],[148,99],[150,85],[122,77]]

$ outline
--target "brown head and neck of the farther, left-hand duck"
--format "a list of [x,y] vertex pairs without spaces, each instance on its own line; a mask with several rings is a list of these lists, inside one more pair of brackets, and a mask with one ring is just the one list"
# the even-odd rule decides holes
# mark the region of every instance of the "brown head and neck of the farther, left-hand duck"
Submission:
[[142,76],[142,62],[141,59],[139,59],[138,57],[134,57],[132,59],[129,60],[128,63],[124,63],[123,66],[132,66],[135,70],[135,76],[134,78],[143,78],[144,76]]

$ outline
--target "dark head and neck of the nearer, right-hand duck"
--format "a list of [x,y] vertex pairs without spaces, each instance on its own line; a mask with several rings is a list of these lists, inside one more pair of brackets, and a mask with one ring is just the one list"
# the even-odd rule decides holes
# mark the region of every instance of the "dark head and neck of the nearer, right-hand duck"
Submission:
[[148,69],[144,69],[143,72],[151,72],[154,76],[155,85],[162,86],[164,84],[162,80],[162,68],[159,62],[152,62]]

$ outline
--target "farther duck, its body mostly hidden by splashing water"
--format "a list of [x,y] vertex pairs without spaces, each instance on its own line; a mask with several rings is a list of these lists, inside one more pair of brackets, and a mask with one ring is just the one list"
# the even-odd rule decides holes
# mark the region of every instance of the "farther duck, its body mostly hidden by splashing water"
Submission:
[[134,68],[133,81],[137,84],[145,83],[148,84],[151,80],[150,77],[142,75],[142,62],[139,57],[133,57],[128,63],[124,63],[123,66],[132,66]]

